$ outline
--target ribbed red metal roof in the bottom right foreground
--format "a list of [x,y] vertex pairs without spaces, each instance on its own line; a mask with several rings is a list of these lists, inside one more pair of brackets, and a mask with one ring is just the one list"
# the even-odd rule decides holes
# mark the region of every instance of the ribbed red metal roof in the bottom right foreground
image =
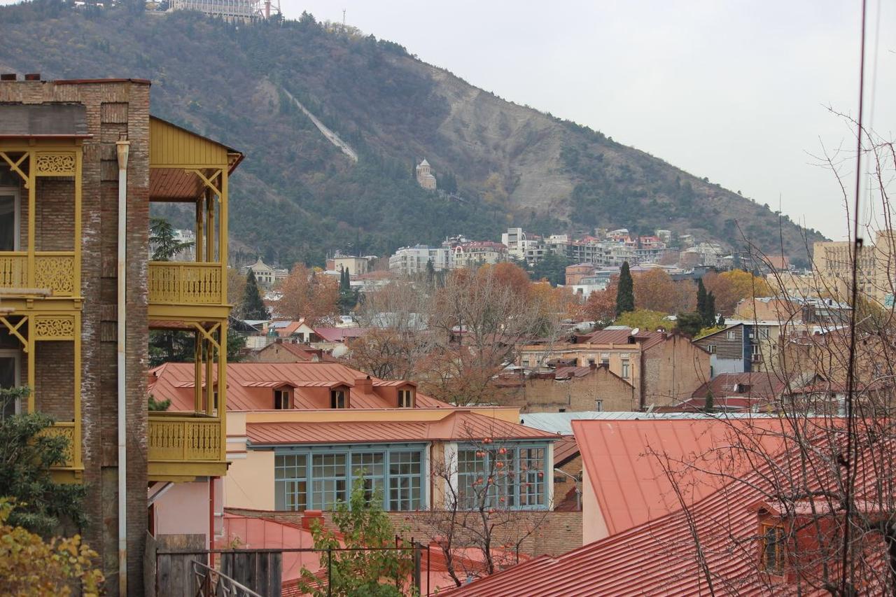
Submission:
[[[884,451],[893,454],[893,447]],[[875,458],[874,454],[867,453],[860,458],[863,472],[857,474],[857,479],[866,480],[866,488],[873,487],[876,480],[871,463]],[[743,482],[732,481],[723,489],[711,492],[687,514],[679,510],[563,556],[535,558],[445,594],[452,597],[772,594],[768,579],[757,574],[758,544],[744,543],[744,538],[757,534],[756,504],[761,502],[763,493],[773,490],[767,482],[775,476],[770,472],[772,466],[762,466],[746,475]],[[884,470],[891,469],[888,466]],[[798,480],[797,484],[804,480]],[[818,483],[810,485],[812,489],[818,487]],[[694,533],[699,537],[702,558],[695,553]],[[865,561],[866,565],[880,570],[876,582],[889,576],[885,572],[886,564],[880,560],[882,551],[873,549]],[[707,584],[708,576],[714,590]],[[876,590],[870,585],[862,588],[863,594],[884,593],[881,586]],[[796,584],[779,584],[777,589],[775,594],[797,594]],[[801,593],[827,594],[809,583],[802,584]]]

